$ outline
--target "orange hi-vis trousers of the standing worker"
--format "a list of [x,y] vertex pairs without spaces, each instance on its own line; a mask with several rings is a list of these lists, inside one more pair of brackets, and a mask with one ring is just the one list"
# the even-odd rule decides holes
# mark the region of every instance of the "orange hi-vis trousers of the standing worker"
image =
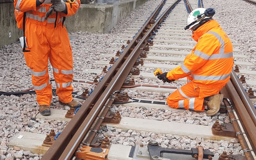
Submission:
[[39,105],[50,105],[52,86],[48,75],[48,60],[53,68],[56,94],[63,103],[73,100],[73,57],[68,32],[62,23],[37,22],[26,19],[25,36],[27,49],[23,52],[27,66],[31,69],[32,84]]

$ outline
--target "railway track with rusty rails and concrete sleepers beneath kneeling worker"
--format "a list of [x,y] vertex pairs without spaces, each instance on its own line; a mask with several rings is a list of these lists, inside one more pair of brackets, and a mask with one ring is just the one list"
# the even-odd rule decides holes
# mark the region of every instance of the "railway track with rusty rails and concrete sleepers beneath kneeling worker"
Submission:
[[[188,5],[188,10],[189,8],[197,8],[200,5],[198,1],[186,3],[191,4],[191,6]],[[146,23],[140,28],[141,22],[134,23],[134,26],[124,32],[125,36],[121,38],[124,43],[116,44],[117,48],[108,48],[108,50],[115,51],[114,54],[100,54],[99,60],[95,62],[97,66],[84,70],[88,73],[96,73],[99,76],[95,77],[94,82],[83,79],[74,80],[75,83],[96,85],[96,87],[88,97],[89,91],[84,92],[85,103],[71,120],[65,119],[69,123],[51,144],[43,159],[72,159],[75,154],[79,155],[78,152],[82,153],[82,149],[79,149],[81,144],[101,147],[101,143],[95,141],[95,136],[105,137],[107,135],[114,145],[114,143],[120,141],[120,138],[116,137],[117,133],[123,134],[121,137],[124,137],[124,139],[129,138],[129,134],[130,138],[134,135],[134,138],[130,141],[131,143],[126,143],[126,145],[140,145],[135,148],[138,153],[134,152],[133,157],[136,157],[136,154],[137,156],[143,155],[144,158],[147,157],[144,155],[144,150],[146,142],[151,137],[148,134],[156,135],[155,139],[157,141],[160,133],[162,133],[164,135],[160,136],[165,137],[165,141],[157,141],[157,144],[162,147],[184,150],[196,148],[200,144],[204,149],[215,151],[211,157],[207,156],[209,159],[222,154],[224,150],[227,152],[234,151],[234,156],[243,152],[246,159],[253,159],[253,151],[255,151],[256,145],[254,138],[256,134],[254,133],[256,129],[255,110],[253,110],[252,102],[244,91],[235,71],[232,72],[230,82],[221,90],[221,93],[227,99],[223,100],[222,111],[217,116],[207,117],[204,112],[174,110],[164,104],[164,97],[175,91],[177,87],[185,84],[186,80],[180,79],[173,84],[163,84],[156,79],[152,71],[156,68],[164,68],[165,71],[168,71],[177,67],[182,63],[185,55],[188,54],[195,43],[189,39],[190,33],[185,32],[183,29],[188,16],[184,1],[162,1],[158,8],[161,8],[161,11],[158,12],[158,9],[156,9],[148,19],[148,24]],[[168,16],[166,17],[167,14]],[[160,17],[161,15],[164,16]],[[144,20],[145,22],[144,18],[141,21]],[[239,45],[234,43],[235,64],[253,66],[253,64],[244,62],[246,56],[239,54]],[[123,49],[120,49],[121,47]],[[140,59],[138,59],[139,57]],[[112,60],[109,61],[109,59]],[[109,68],[110,65],[111,68]],[[239,70],[239,74],[255,75],[256,73],[242,67]],[[238,76],[240,76],[239,74]],[[143,81],[145,78],[155,82],[155,85],[146,84]],[[253,81],[247,81],[247,84],[254,85],[254,83]],[[120,94],[120,91],[127,92],[128,95]],[[116,112],[117,110],[120,111]],[[181,118],[179,118],[180,116]],[[37,118],[47,119],[48,117]],[[220,129],[220,125],[215,124],[216,120],[221,124],[232,124],[234,127],[232,134],[235,134],[235,137],[231,137],[230,132],[228,134],[222,132],[222,135],[212,134],[212,126]],[[198,130],[203,133],[199,134]],[[146,139],[142,144],[140,136]],[[139,140],[135,137],[139,138]],[[191,141],[195,141],[195,143],[193,142],[194,145],[191,145]],[[150,143],[152,146],[156,145],[156,142]],[[188,143],[190,145],[187,145]],[[207,143],[210,143],[210,145],[206,145]],[[216,149],[215,143],[220,143],[220,147]],[[230,144],[236,145],[237,148],[228,149],[226,144],[228,146]],[[104,148],[109,146],[108,144],[106,146],[106,141],[104,145]],[[161,151],[164,148],[158,148],[158,150]],[[196,148],[196,150],[199,149]],[[224,154],[222,156],[224,157]],[[111,158],[114,159],[115,157],[112,156]],[[141,158],[141,156],[136,158]],[[239,156],[239,158],[241,157]]]

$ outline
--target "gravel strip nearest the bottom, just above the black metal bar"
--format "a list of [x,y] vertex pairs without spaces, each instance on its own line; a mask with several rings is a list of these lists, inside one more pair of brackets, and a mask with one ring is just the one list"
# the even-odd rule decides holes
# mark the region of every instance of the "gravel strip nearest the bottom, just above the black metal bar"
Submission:
[[214,153],[214,156],[219,156],[225,150],[228,153],[234,152],[235,155],[243,154],[240,143],[236,139],[230,141],[220,140],[204,140],[204,138],[194,136],[178,136],[172,134],[152,133],[152,132],[137,132],[133,130],[122,130],[114,128],[111,125],[106,127],[101,126],[98,131],[98,137],[109,137],[113,144],[123,144],[125,146],[147,145],[150,140],[156,140],[163,148],[190,149],[196,146],[203,146],[204,149],[209,149]]

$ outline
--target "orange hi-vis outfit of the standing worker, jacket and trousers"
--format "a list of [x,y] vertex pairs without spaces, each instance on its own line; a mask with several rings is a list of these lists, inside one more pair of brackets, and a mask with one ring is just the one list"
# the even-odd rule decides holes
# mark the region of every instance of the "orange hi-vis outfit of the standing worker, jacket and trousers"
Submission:
[[57,86],[56,94],[63,103],[73,100],[73,57],[68,32],[62,25],[63,17],[76,13],[80,0],[69,4],[66,2],[68,14],[58,12],[44,20],[45,13],[52,4],[41,4],[36,7],[36,0],[14,0],[14,7],[26,12],[25,37],[30,52],[23,52],[27,66],[31,69],[32,84],[39,105],[50,105],[52,86],[48,75],[48,59],[50,59],[53,76]]

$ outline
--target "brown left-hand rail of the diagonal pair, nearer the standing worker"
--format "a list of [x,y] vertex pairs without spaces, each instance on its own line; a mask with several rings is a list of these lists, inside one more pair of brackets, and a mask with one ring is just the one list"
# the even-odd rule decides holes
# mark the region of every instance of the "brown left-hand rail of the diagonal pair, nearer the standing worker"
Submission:
[[[148,19],[148,24],[150,23],[151,20],[153,20],[153,17],[155,17],[157,11],[160,9],[160,7],[164,4],[164,0],[158,5],[158,7],[156,8],[156,10],[153,12],[153,14],[150,16],[150,18]],[[98,84],[98,86],[95,88],[95,90],[92,92],[92,94],[88,97],[88,99],[86,100],[86,103],[84,103],[82,105],[82,107],[79,109],[79,111],[76,113],[76,116],[74,116],[71,121],[67,124],[67,126],[65,127],[65,129],[62,131],[62,133],[59,135],[59,137],[54,141],[54,143],[52,144],[52,146],[48,149],[48,151],[45,153],[45,155],[43,156],[43,160],[56,160],[59,159],[60,156],[64,153],[64,149],[66,148],[66,146],[68,146],[69,142],[71,141],[71,139],[76,139],[76,137],[78,137],[79,135],[76,134],[76,132],[78,131],[78,129],[80,128],[80,126],[82,125],[82,123],[84,121],[88,122],[88,119],[91,121],[90,126],[92,125],[92,121],[94,121],[95,119],[92,119],[90,116],[92,116],[92,114],[90,115],[90,107],[93,108],[93,106],[95,106],[94,104],[97,103],[98,100],[100,100],[100,98],[102,98],[101,95],[106,94],[106,92],[104,91],[108,91],[106,85],[110,84],[109,82],[113,78],[113,75],[116,74],[116,70],[118,70],[117,68],[120,68],[120,66],[122,66],[123,64],[123,59],[125,58],[125,56],[127,57],[129,54],[130,49],[132,49],[132,47],[134,47],[136,45],[136,40],[138,40],[140,38],[140,35],[143,33],[144,30],[146,30],[147,25],[144,25],[142,27],[142,29],[140,30],[140,32],[134,37],[132,43],[130,45],[128,45],[128,47],[124,50],[124,53],[121,54],[121,56],[118,58],[118,60],[114,63],[114,65],[112,66],[112,68],[107,72],[107,74],[104,76],[104,78],[102,79],[102,81]],[[146,45],[146,44],[145,44]],[[137,47],[138,48],[138,47]],[[137,58],[139,57],[139,55],[137,56]],[[137,60],[137,59],[136,59]],[[134,62],[135,63],[135,62]],[[131,64],[134,64],[131,63]],[[132,66],[131,66],[132,68]],[[131,70],[131,69],[130,69]],[[127,71],[127,75],[129,74],[129,71]],[[123,76],[124,77],[124,76]],[[126,77],[124,78],[124,80],[126,79]],[[123,81],[124,82],[124,81]],[[123,83],[120,82],[120,84],[122,85]],[[120,87],[121,88],[121,87]],[[107,92],[108,94],[110,94],[110,92]],[[109,95],[108,95],[109,96]],[[105,98],[108,98],[107,95],[105,95]],[[106,101],[106,100],[105,100]],[[103,102],[100,103],[100,105],[103,105]],[[102,106],[101,106],[102,107]],[[99,109],[100,107],[97,106],[97,109]],[[93,109],[95,111],[95,107]],[[91,110],[92,111],[92,110]],[[93,114],[94,116],[96,116],[96,114]],[[87,119],[86,119],[87,118]],[[86,123],[87,123],[86,122]],[[87,131],[89,131],[89,125],[87,125]],[[73,146],[73,145],[72,145]],[[72,147],[71,147],[72,148]],[[70,148],[70,149],[71,149]],[[73,150],[74,151],[74,150]],[[69,151],[68,151],[69,152]],[[74,152],[73,152],[74,153]],[[68,153],[68,155],[70,156],[70,152]]]

